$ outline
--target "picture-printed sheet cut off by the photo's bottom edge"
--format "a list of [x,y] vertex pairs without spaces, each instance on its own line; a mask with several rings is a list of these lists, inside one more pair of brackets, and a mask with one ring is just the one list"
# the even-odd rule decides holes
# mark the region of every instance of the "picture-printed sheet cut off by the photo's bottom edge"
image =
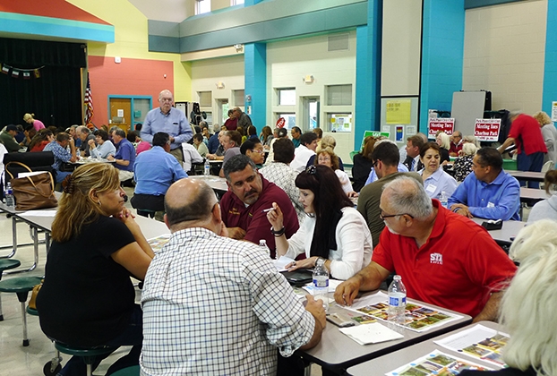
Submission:
[[396,370],[385,373],[387,376],[452,376],[464,370],[492,371],[479,364],[467,362],[456,356],[433,350],[432,353],[407,363]]

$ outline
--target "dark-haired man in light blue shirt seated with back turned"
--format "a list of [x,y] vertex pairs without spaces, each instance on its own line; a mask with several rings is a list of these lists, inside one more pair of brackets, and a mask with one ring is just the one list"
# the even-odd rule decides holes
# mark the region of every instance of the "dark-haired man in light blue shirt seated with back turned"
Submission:
[[153,147],[137,156],[133,165],[136,184],[130,202],[140,215],[144,215],[141,209],[154,210],[155,218],[160,221],[163,220],[168,188],[187,177],[184,168],[169,151],[168,133],[157,132],[153,136]]

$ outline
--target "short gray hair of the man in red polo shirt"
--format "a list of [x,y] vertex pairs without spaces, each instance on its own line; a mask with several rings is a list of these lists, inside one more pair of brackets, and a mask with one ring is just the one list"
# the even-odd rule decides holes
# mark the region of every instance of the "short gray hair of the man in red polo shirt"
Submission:
[[432,199],[416,179],[400,176],[383,186],[390,191],[390,207],[397,213],[406,213],[416,219],[427,218],[433,213]]

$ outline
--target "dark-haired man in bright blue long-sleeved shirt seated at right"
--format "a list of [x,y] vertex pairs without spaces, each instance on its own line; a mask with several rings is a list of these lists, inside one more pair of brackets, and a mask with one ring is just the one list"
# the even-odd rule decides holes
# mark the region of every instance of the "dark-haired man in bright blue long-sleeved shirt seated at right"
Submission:
[[474,174],[458,185],[449,198],[449,208],[468,218],[520,220],[520,185],[502,170],[503,160],[493,148],[477,150]]

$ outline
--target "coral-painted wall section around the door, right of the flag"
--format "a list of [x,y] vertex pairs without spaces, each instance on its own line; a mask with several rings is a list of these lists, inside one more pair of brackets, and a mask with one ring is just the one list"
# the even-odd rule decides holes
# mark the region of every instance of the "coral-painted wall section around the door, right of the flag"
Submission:
[[92,122],[99,127],[108,125],[109,95],[150,96],[153,107],[159,107],[159,92],[174,92],[174,65],[124,57],[116,64],[114,57],[89,56],[89,79],[95,113]]

